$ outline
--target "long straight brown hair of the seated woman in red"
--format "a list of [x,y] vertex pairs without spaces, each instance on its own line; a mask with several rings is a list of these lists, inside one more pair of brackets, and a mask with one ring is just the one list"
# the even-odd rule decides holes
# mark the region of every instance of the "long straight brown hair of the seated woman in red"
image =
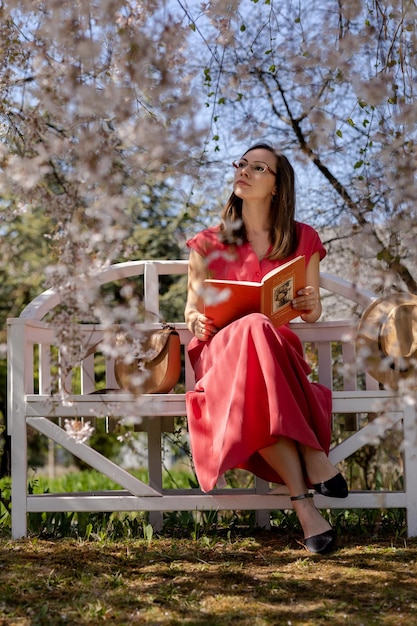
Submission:
[[[284,259],[295,251],[297,245],[294,170],[287,157],[267,143],[255,144],[243,156],[259,149],[268,150],[276,158],[276,193],[272,196],[270,208],[269,237],[272,249],[268,258]],[[242,220],[242,204],[242,199],[232,192],[221,214],[220,230],[224,243],[237,244],[248,240]]]

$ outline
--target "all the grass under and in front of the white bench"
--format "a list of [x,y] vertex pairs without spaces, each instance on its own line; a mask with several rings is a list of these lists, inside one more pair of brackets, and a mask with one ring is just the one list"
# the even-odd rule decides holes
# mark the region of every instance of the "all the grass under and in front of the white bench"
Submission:
[[[34,477],[31,488],[111,487],[97,480]],[[292,511],[275,512],[270,531],[249,513],[170,513],[160,535],[144,513],[32,514],[30,537],[12,540],[7,480],[0,488],[0,626],[417,623],[417,539],[402,510],[327,511],[338,545],[321,557]]]

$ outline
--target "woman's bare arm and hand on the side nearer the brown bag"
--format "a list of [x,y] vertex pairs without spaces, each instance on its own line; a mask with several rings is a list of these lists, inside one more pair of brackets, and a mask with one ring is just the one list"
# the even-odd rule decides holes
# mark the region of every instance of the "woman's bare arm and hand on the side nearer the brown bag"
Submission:
[[201,340],[208,340],[216,332],[209,317],[203,314],[202,287],[208,277],[207,264],[204,257],[191,250],[188,263],[188,291],[184,317],[189,330]]

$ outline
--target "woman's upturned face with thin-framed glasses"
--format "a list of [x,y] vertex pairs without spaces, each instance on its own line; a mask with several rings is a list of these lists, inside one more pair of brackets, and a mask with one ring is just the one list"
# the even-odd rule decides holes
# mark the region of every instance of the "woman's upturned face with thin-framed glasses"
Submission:
[[233,191],[242,200],[271,199],[276,193],[277,159],[269,150],[257,148],[235,164]]

